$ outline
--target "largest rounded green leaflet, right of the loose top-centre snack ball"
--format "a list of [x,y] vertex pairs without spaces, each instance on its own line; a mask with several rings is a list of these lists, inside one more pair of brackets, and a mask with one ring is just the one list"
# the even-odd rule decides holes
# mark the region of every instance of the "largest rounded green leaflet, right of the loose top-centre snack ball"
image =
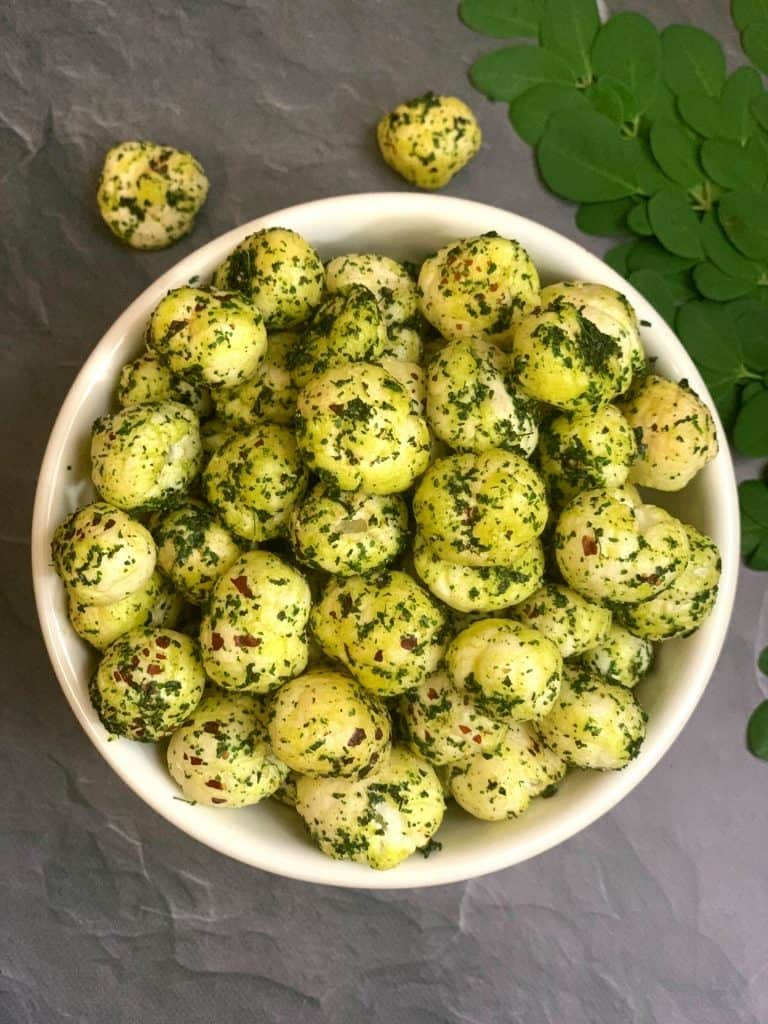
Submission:
[[563,111],[550,118],[539,142],[539,170],[553,191],[577,203],[632,196],[641,190],[632,141],[599,114]]

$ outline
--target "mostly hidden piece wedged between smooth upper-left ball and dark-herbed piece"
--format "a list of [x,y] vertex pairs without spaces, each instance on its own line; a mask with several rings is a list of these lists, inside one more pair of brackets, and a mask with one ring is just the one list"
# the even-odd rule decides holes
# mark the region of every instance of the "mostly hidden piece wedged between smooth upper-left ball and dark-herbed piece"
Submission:
[[256,373],[240,387],[220,388],[214,394],[216,413],[240,430],[257,423],[291,426],[296,415],[298,388],[288,370],[288,353],[296,343],[293,331],[275,331],[266,341],[266,354]]

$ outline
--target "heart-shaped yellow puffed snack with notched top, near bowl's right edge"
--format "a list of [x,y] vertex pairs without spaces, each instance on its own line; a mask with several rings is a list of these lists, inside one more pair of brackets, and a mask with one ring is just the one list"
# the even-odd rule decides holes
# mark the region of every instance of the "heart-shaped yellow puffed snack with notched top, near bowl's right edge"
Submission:
[[625,487],[585,490],[555,528],[563,579],[593,601],[636,604],[658,594],[685,568],[685,526],[655,505],[637,505]]

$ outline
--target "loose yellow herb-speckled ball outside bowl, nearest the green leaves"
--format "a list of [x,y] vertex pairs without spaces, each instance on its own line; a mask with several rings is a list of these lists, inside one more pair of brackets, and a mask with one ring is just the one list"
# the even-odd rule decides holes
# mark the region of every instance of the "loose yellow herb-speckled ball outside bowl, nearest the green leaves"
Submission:
[[400,103],[376,129],[393,171],[420,188],[442,188],[480,148],[475,116],[456,96],[427,92]]

